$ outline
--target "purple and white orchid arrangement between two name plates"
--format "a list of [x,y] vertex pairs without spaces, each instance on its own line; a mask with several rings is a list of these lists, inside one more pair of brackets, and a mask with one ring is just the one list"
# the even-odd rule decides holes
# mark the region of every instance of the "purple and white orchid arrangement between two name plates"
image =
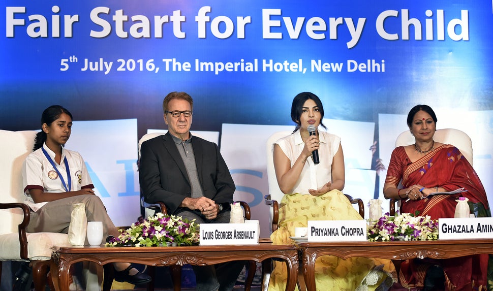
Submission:
[[419,213],[404,213],[389,216],[385,213],[379,219],[368,219],[367,235],[369,241],[394,240],[436,240],[438,239],[438,220]]

